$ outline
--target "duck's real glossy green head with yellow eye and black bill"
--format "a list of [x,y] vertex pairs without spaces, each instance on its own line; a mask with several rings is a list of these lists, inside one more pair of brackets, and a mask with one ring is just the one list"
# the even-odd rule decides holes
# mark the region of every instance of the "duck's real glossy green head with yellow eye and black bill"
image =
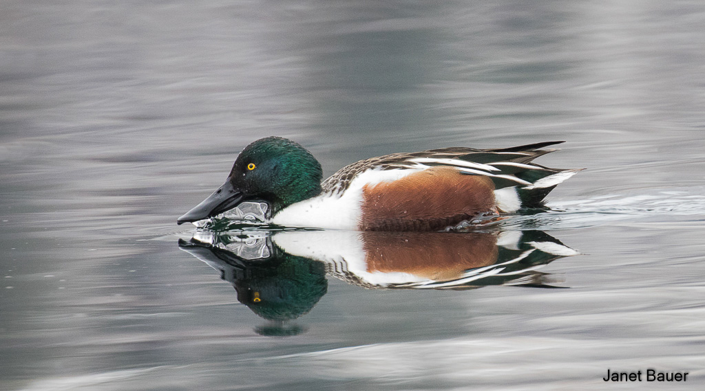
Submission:
[[304,147],[283,137],[266,137],[245,147],[225,184],[176,222],[197,222],[248,200],[262,200],[273,213],[321,193],[323,170]]

